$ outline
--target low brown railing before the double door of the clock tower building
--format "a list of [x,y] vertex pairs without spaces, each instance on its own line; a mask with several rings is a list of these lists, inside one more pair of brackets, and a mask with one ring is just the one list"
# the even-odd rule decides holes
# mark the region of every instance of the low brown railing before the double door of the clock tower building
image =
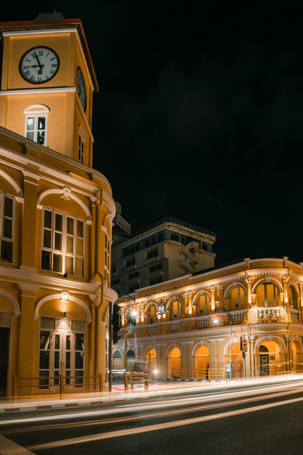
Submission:
[[[58,381],[58,384],[41,384],[40,381],[43,380],[44,382],[47,381],[48,383],[50,382],[50,379],[54,379],[55,381]],[[69,379],[79,379],[81,382],[76,383],[76,384],[67,384],[66,379],[69,382]],[[94,379],[94,382],[84,382],[84,379]],[[22,384],[22,382],[28,382],[30,381],[31,384]],[[33,384],[34,382],[37,382],[37,384]],[[98,376],[63,376],[62,374],[59,374],[59,376],[40,376],[40,377],[33,377],[33,378],[18,378],[16,374],[13,374],[13,397],[17,398],[18,396],[24,396],[18,393],[19,389],[37,389],[38,391],[43,391],[45,389],[50,390],[50,387],[53,390],[54,387],[58,387],[58,391],[60,395],[64,395],[66,393],[66,387],[69,387],[68,393],[71,392],[87,392],[87,389],[84,389],[84,385],[89,385],[89,386],[94,386],[94,391],[96,389],[99,389],[100,392],[103,392],[103,380],[102,380],[102,374],[99,374]],[[70,387],[73,387],[72,389]],[[96,387],[97,386],[97,387]],[[83,389],[82,389],[83,387]],[[28,395],[28,394],[27,394]]]

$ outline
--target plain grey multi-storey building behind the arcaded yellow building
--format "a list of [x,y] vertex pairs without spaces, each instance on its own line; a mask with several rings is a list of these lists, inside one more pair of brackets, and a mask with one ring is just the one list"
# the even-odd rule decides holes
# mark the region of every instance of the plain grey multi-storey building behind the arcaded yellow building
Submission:
[[[119,228],[119,231],[118,231]],[[130,238],[125,238],[128,235]],[[164,218],[130,236],[130,225],[114,218],[111,286],[118,294],[162,283],[214,266],[216,234],[175,218]]]

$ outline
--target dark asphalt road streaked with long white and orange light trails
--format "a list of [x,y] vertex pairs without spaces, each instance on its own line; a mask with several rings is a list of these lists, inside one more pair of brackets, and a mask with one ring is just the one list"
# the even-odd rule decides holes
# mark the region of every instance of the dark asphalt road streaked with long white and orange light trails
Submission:
[[164,389],[125,403],[5,413],[0,434],[37,455],[299,455],[302,401],[303,378]]

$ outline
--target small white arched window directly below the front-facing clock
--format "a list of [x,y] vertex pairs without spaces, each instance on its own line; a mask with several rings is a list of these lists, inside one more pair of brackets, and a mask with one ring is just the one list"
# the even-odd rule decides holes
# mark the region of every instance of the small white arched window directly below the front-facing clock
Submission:
[[32,104],[23,113],[25,114],[24,136],[41,145],[47,145],[47,116],[50,109],[43,104]]

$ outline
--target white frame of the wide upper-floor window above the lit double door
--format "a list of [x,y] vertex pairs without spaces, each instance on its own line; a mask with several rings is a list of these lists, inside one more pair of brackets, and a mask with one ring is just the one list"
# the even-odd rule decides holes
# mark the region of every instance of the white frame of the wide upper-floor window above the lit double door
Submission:
[[[51,212],[52,213],[52,222],[51,222],[51,228],[45,227],[45,211]],[[59,214],[62,216],[62,245],[61,245],[61,250],[58,250],[55,248],[55,233],[61,233],[61,231],[57,231],[55,229],[55,215]],[[72,218],[74,220],[74,234],[71,235],[67,233],[67,218]],[[77,235],[77,222],[83,222],[83,237],[79,237]],[[42,252],[43,251],[50,251],[50,272],[55,272],[55,273],[66,273],[65,272],[65,256],[70,256],[73,258],[73,273],[71,274],[72,276],[79,276],[75,274],[76,271],[76,259],[81,259],[83,260],[83,273],[80,278],[84,278],[85,275],[85,220],[82,218],[78,217],[73,217],[69,213],[64,213],[60,212],[59,210],[53,210],[49,207],[43,207],[42,210],[42,235],[41,235],[41,261],[40,261],[40,267],[41,270],[48,270],[45,268],[42,268]],[[44,229],[51,231],[51,247],[45,247],[43,245],[44,243]],[[73,237],[73,253],[68,253],[67,252],[67,237]],[[77,241],[78,238],[83,241],[83,255],[77,254]],[[54,253],[61,255],[62,256],[62,271],[57,271],[53,270],[54,269]]]

